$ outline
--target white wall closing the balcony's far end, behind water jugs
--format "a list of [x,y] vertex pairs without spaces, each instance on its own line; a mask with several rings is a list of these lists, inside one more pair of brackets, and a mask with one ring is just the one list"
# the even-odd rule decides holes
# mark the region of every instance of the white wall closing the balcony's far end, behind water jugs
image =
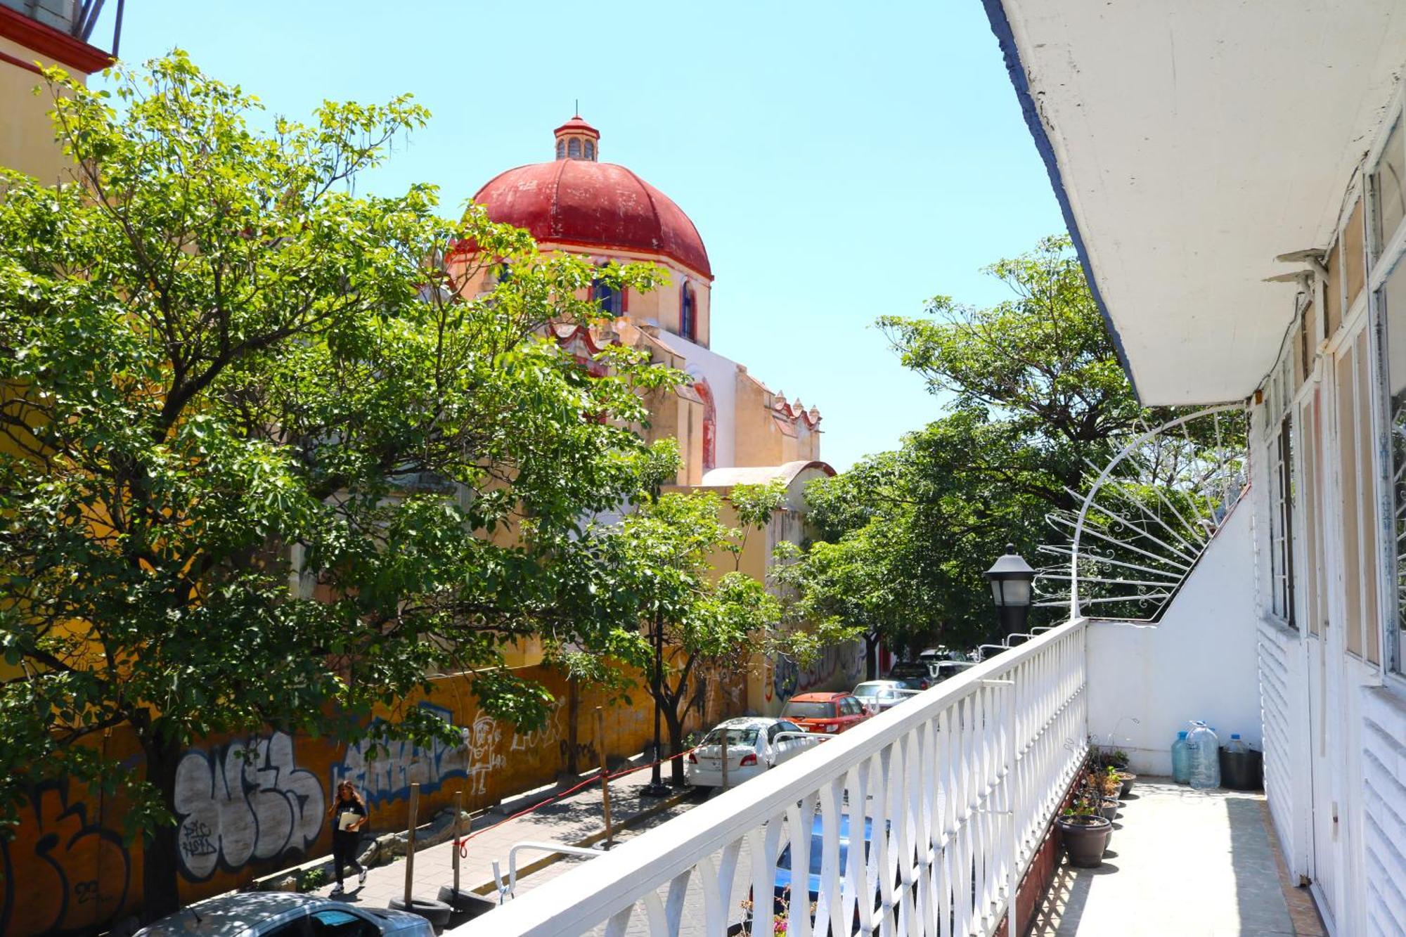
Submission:
[[1239,732],[1261,744],[1249,506],[1220,528],[1160,623],[1090,623],[1088,730],[1101,744],[1115,736],[1133,771],[1171,774],[1171,743],[1191,719],[1222,743]]

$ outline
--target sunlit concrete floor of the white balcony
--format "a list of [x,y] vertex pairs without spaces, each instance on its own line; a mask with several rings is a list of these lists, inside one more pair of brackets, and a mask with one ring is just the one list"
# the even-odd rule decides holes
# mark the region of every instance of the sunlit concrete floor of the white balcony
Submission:
[[1031,934],[1229,937],[1324,934],[1292,888],[1263,793],[1139,781],[1099,868],[1063,862]]

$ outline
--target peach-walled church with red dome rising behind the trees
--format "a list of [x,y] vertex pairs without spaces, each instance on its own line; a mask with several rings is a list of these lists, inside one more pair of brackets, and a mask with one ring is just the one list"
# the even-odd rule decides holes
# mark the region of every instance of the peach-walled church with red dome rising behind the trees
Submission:
[[[641,348],[692,378],[650,398],[644,431],[650,440],[679,440],[679,490],[725,498],[735,484],[786,483],[787,508],[765,537],[748,539],[741,561],[744,573],[765,580],[776,543],[803,537],[806,483],[834,474],[820,459],[820,409],[799,397],[787,400],[711,349],[713,267],[697,228],[672,198],[626,166],[602,162],[600,132],[579,115],[554,131],[551,153],[547,162],[499,173],[474,201],[492,221],[524,228],[543,250],[583,255],[598,264],[648,262],[668,273],[650,293],[598,286],[593,298],[613,318],[589,329],[561,325],[557,339],[582,360],[607,343]],[[849,649],[806,673],[763,661],[748,708],[775,712],[790,694],[848,688],[860,677],[859,654]]]

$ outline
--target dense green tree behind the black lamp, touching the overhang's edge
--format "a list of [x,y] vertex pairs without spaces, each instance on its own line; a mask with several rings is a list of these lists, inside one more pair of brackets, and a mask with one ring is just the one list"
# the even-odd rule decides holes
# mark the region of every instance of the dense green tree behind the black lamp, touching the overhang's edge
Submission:
[[1067,236],[987,273],[1011,298],[939,295],[921,318],[879,321],[948,412],[807,490],[827,542],[797,573],[807,602],[890,647],[991,636],[986,568],[1008,542],[1033,560],[1045,515],[1077,502],[1088,466],[1160,418],[1133,395]]

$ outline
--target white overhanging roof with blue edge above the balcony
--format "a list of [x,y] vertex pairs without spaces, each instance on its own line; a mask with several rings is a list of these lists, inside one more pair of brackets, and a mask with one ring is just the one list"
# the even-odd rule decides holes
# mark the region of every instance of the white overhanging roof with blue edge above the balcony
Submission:
[[1294,314],[1263,280],[1327,246],[1406,3],[984,1],[1139,398],[1244,398]]

